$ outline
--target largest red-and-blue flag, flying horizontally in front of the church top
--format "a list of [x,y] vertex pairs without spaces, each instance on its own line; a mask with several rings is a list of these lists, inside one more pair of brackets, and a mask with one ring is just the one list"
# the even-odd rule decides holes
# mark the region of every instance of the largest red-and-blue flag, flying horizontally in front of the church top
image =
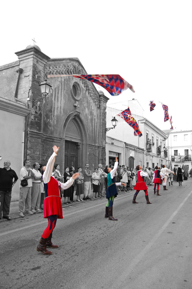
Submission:
[[110,95],[120,95],[124,90],[131,89],[135,92],[133,86],[129,84],[125,79],[123,79],[118,74],[74,74],[74,75],[65,75],[65,74],[55,74],[47,75],[50,77],[63,77],[63,76],[73,76],[81,79],[86,79],[88,81],[94,82],[103,88],[105,88]]

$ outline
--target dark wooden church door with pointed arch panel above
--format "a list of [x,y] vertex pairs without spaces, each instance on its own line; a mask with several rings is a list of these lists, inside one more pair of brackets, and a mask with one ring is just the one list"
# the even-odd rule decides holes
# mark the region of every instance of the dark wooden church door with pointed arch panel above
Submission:
[[64,166],[73,166],[77,172],[77,167],[81,164],[81,144],[82,134],[77,119],[72,118],[65,131],[65,158]]

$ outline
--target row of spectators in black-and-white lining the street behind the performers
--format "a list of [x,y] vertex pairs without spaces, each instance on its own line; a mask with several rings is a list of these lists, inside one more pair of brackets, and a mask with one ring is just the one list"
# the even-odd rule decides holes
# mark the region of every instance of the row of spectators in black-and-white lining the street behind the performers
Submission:
[[[2,217],[10,220],[10,202],[12,187],[18,180],[16,172],[10,168],[10,161],[4,162],[4,168],[0,168],[0,219]],[[20,193],[19,193],[19,210],[20,217],[24,217],[25,214],[33,215],[36,212],[41,213],[43,210],[43,201],[45,197],[44,184],[42,180],[41,169],[43,164],[35,162],[31,167],[29,160],[24,160],[23,168],[20,170]],[[105,166],[111,167],[113,165]],[[83,202],[85,200],[99,199],[106,196],[107,190],[107,174],[104,172],[105,168],[102,164],[98,164],[98,167],[93,168],[93,172],[89,168],[89,164],[85,164],[84,170],[82,166],[78,166],[77,172],[79,177],[74,184],[62,191],[64,197],[64,204],[71,204],[74,200],[74,190],[76,201]],[[159,168],[160,169],[160,168]],[[145,183],[147,186],[153,186],[152,179],[154,175],[154,168],[146,167],[143,171],[148,173],[148,177],[145,177]],[[177,181],[178,169],[174,168],[175,175],[169,174],[168,180]],[[68,179],[75,173],[73,166],[67,166],[64,173],[61,172],[59,164],[54,165],[54,171],[52,176],[60,182],[66,183]],[[125,186],[117,186],[118,192],[122,191],[126,193],[129,190],[133,190],[137,182],[138,171],[135,168],[129,168],[125,165],[119,165],[115,172],[115,182],[123,182]],[[191,176],[191,171],[189,174]],[[182,178],[187,179],[182,171]],[[162,182],[162,180],[161,180]],[[91,196],[91,186],[93,187],[93,196]],[[104,190],[104,191],[103,191]]]

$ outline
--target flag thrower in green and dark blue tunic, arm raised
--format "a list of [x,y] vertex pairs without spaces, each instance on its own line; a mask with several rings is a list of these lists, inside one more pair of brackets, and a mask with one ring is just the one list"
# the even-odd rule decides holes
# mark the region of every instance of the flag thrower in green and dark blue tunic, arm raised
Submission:
[[107,205],[105,207],[105,218],[109,217],[111,221],[118,221],[118,219],[113,218],[113,202],[114,198],[117,197],[118,192],[116,186],[123,185],[124,183],[115,183],[115,172],[118,168],[118,158],[115,158],[115,164],[113,170],[111,168],[106,167],[104,172],[107,174],[107,190],[106,190],[106,198]]

